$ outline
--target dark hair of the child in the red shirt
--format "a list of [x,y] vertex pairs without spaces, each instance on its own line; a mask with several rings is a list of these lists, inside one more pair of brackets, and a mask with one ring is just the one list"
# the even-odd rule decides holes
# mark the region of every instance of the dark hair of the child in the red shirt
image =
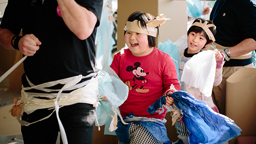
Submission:
[[[150,20],[154,20],[156,19],[155,16],[153,16],[150,13],[143,13],[143,12],[133,12],[132,14],[130,14],[130,16],[128,17],[128,22],[133,22],[134,20],[138,20],[141,22],[141,25],[139,25],[142,28],[146,28],[146,24],[148,21]],[[156,36],[158,36],[158,26],[157,28],[157,34]],[[126,31],[125,31],[126,34]],[[148,45],[150,48],[155,47],[156,46],[156,37],[154,36],[148,36]]]

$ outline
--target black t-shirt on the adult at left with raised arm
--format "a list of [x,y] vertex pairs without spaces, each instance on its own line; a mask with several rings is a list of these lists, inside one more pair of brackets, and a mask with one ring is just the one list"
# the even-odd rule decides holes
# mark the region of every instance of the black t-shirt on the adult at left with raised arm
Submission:
[[[31,0],[8,0],[1,28],[23,36],[34,34],[42,42],[34,56],[24,61],[25,74],[35,85],[96,72],[95,36],[100,24],[103,0],[75,0],[98,18],[94,31],[85,40],[75,36],[57,14],[57,0],[31,6]],[[22,78],[26,87],[27,80]]]

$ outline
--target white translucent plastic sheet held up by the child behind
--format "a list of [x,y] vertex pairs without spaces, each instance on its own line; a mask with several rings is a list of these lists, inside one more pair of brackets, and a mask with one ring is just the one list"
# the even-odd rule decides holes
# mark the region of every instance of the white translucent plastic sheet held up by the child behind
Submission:
[[213,50],[201,51],[188,60],[183,69],[181,82],[188,87],[199,88],[207,97],[212,95],[215,79],[216,60]]

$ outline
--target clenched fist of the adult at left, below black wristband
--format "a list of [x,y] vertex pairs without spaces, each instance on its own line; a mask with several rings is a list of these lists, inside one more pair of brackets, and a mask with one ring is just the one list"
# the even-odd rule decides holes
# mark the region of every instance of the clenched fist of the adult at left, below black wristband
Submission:
[[25,56],[33,56],[41,45],[41,41],[33,34],[23,36],[19,43],[19,51]]

